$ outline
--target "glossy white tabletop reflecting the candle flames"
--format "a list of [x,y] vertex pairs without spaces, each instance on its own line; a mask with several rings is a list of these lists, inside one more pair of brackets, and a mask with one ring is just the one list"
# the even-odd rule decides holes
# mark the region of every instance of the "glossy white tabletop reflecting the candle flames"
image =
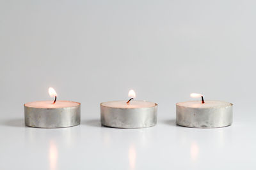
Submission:
[[234,123],[217,129],[177,126],[175,108],[160,109],[157,125],[145,129],[102,127],[98,109],[82,110],[76,127],[38,129],[25,127],[22,109],[17,112],[1,114],[0,169],[256,168],[250,109],[235,108]]

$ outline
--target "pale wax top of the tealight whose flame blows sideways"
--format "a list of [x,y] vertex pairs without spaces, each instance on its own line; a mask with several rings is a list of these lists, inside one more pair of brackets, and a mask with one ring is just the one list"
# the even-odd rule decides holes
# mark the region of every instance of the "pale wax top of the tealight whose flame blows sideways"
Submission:
[[203,104],[202,101],[186,101],[177,103],[178,106],[184,106],[188,108],[222,108],[226,106],[231,106],[231,103],[225,101],[205,101]]

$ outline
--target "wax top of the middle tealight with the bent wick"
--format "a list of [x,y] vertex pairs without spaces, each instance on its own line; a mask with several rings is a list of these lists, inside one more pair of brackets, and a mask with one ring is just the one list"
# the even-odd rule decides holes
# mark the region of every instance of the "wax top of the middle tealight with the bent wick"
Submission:
[[155,103],[149,101],[130,101],[129,104],[127,101],[108,101],[102,103],[102,106],[111,107],[111,108],[150,108],[154,107]]

